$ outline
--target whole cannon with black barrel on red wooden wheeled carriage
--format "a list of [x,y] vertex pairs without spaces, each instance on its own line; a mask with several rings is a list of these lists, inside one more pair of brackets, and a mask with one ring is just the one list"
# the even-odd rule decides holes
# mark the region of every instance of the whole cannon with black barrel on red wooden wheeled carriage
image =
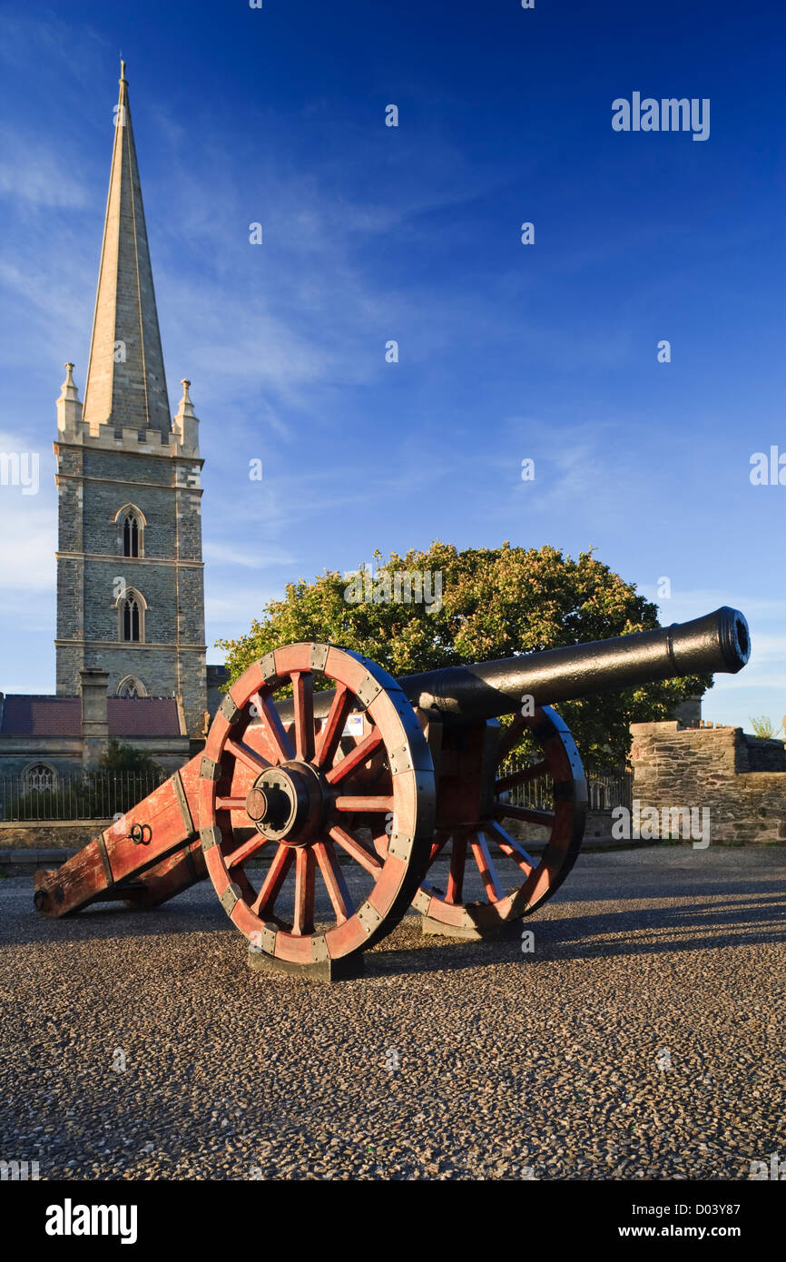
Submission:
[[[582,846],[587,781],[554,704],[737,673],[749,651],[746,618],[725,606],[399,680],[333,644],[276,649],[228,689],[201,753],[61,868],[35,873],[35,906],[151,907],[209,878],[252,968],[320,981],[362,970],[362,952],[410,906],[429,933],[498,934],[560,887]],[[500,774],[527,734],[534,760]],[[548,801],[511,803],[534,784]],[[539,858],[510,820],[546,830]],[[449,857],[442,886],[438,857],[443,868]]]

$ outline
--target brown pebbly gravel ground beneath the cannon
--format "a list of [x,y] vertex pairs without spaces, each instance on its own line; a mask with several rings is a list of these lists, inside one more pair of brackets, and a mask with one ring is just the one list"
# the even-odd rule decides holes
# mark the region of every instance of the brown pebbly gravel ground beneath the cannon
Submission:
[[208,885],[52,921],[29,875],[0,880],[0,1156],[42,1179],[746,1180],[786,1155],[785,870],[582,857],[516,936],[409,916],[333,987],[252,974]]

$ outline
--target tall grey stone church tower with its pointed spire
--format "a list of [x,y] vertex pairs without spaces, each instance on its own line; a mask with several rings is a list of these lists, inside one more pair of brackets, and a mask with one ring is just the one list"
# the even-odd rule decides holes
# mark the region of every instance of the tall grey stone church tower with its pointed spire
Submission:
[[199,423],[183,381],[169,414],[125,62],[85,405],[57,401],[57,692],[105,670],[120,697],[175,697],[183,734],[206,708]]

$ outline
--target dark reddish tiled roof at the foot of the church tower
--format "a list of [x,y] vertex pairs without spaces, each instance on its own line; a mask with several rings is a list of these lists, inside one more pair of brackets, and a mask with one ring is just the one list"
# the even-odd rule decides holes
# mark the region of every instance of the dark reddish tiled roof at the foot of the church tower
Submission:
[[[174,697],[107,697],[110,736],[179,736]],[[78,697],[5,695],[0,736],[72,736],[82,732]]]

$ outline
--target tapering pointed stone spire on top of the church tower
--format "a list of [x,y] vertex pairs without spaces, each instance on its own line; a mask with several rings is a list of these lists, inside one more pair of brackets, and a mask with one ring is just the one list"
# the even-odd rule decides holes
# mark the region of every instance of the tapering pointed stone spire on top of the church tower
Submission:
[[125,62],[120,63],[83,419],[91,434],[106,423],[117,435],[124,428],[140,435],[145,429],[168,435],[172,429]]

